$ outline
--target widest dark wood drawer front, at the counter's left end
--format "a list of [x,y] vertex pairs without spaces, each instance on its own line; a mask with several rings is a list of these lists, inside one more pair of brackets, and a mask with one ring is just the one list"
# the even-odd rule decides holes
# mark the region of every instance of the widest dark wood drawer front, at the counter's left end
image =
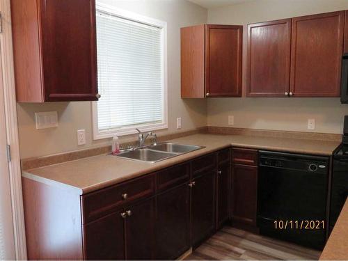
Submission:
[[155,174],[101,189],[82,196],[84,222],[88,223],[113,212],[121,206],[152,196],[155,193]]

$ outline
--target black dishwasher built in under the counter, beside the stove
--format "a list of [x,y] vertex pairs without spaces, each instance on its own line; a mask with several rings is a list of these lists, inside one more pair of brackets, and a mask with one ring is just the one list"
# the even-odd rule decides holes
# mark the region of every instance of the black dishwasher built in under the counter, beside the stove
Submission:
[[260,234],[322,249],[329,158],[260,151]]

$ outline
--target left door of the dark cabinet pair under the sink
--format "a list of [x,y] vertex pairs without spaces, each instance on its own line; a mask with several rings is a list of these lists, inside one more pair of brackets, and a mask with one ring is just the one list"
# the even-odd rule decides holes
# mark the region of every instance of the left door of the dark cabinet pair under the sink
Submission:
[[187,183],[157,196],[157,260],[174,260],[190,248],[190,189]]

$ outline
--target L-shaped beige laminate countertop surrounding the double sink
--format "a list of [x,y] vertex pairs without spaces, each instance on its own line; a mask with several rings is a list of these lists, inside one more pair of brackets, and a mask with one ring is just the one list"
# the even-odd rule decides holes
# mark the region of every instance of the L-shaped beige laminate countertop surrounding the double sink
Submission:
[[22,176],[62,189],[68,189],[81,195],[205,155],[208,152],[227,148],[230,145],[324,156],[331,155],[339,145],[338,142],[334,141],[223,134],[195,134],[173,139],[171,142],[202,145],[205,148],[157,163],[133,161],[111,155],[99,155],[23,171]]

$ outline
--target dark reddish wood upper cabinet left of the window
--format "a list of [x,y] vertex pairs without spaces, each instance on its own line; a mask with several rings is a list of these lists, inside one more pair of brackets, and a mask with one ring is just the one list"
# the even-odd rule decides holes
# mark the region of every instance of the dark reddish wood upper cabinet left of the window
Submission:
[[97,100],[95,0],[11,0],[17,102]]

